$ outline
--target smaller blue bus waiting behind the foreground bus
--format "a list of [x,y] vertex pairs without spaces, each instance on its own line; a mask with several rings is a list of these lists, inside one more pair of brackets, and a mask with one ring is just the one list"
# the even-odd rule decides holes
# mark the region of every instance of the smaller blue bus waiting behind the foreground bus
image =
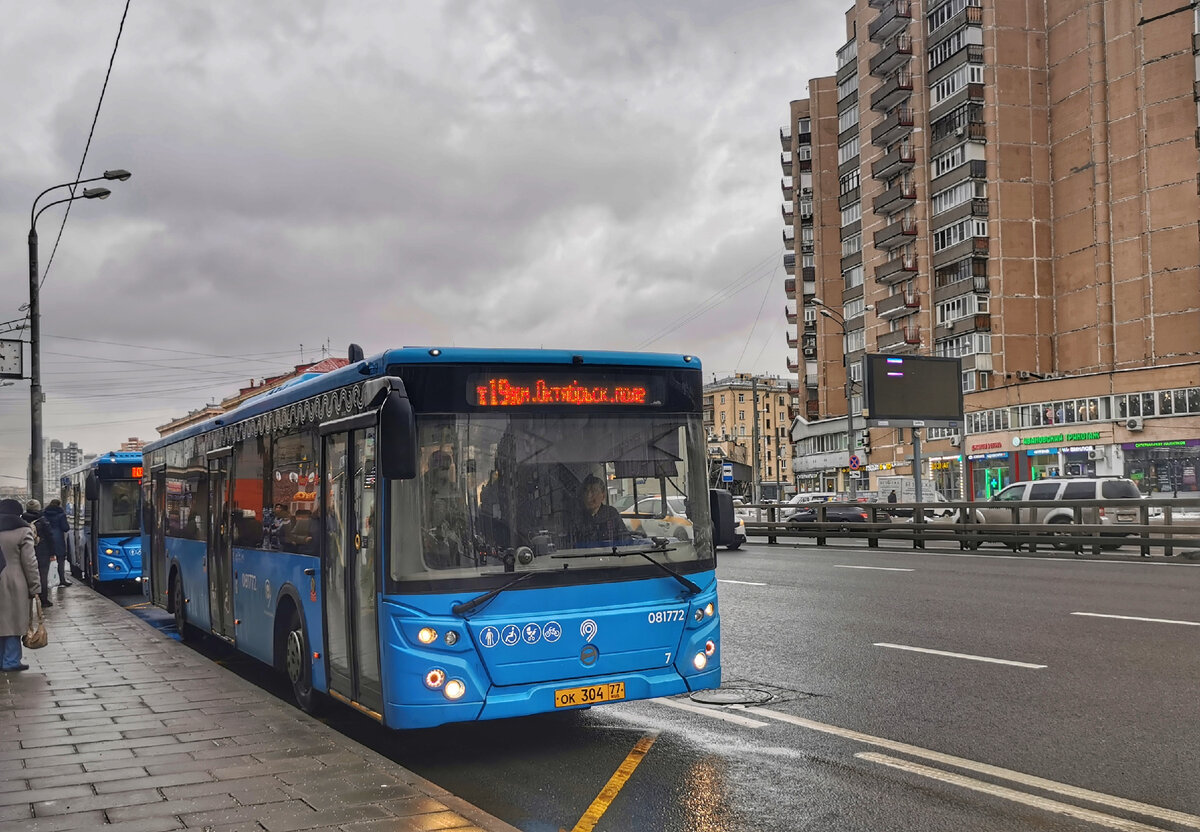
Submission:
[[142,454],[112,451],[59,481],[71,573],[92,586],[142,580]]

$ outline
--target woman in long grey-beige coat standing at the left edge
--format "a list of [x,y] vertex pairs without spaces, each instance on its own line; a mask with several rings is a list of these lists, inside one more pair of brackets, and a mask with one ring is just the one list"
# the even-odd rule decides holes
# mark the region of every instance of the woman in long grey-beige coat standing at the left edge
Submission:
[[20,519],[20,503],[0,499],[0,670],[29,670],[20,636],[29,629],[29,601],[41,592],[34,529]]

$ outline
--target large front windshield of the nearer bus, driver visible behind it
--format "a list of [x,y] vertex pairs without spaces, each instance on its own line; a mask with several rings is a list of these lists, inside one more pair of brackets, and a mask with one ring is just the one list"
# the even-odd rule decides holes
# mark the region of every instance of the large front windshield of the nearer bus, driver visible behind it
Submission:
[[452,414],[419,425],[420,474],[390,489],[395,581],[644,568],[622,552],[649,547],[684,568],[712,562],[698,414]]

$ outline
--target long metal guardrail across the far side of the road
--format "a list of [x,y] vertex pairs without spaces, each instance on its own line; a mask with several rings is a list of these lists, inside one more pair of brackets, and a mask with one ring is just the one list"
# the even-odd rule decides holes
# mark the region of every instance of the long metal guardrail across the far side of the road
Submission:
[[[868,514],[868,521],[832,520],[830,507],[853,507]],[[815,508],[816,520],[788,522],[798,508]],[[1136,523],[1099,522],[1098,509],[1105,514],[1138,509]],[[954,543],[959,549],[973,550],[984,544],[1002,544],[1013,551],[1039,547],[1081,553],[1099,553],[1121,546],[1138,546],[1142,556],[1162,549],[1165,556],[1175,550],[1200,550],[1200,499],[1128,499],[1128,501],[1025,501],[1025,502],[938,502],[938,503],[804,503],[755,504],[738,507],[743,511],[746,534],[766,537],[768,543],[779,538],[811,538],[817,545],[828,539],[865,539],[877,547],[880,540],[901,540],[913,549],[926,543]],[[746,509],[762,519],[746,516]],[[924,513],[952,513],[947,517],[923,516]],[[982,522],[982,510],[1010,515],[1006,522]],[[1037,522],[1051,509],[1069,509],[1069,521]],[[1160,510],[1160,514],[1159,514]],[[910,516],[898,516],[906,513]]]

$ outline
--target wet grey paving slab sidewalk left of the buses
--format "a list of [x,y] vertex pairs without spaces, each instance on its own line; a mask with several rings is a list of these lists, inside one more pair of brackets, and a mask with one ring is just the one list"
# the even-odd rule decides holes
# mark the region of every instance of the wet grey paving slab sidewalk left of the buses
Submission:
[[86,586],[0,672],[0,832],[517,832]]

